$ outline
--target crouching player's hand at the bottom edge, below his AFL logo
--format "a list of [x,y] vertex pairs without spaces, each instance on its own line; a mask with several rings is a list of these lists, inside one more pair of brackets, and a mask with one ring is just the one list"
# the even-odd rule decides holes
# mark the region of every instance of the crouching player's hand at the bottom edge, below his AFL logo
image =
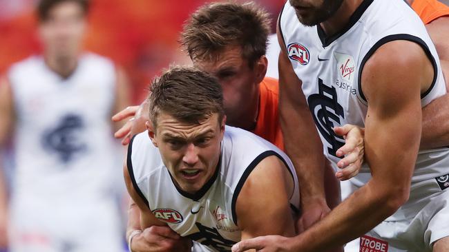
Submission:
[[191,251],[192,242],[182,238],[168,226],[152,226],[131,240],[133,252]]

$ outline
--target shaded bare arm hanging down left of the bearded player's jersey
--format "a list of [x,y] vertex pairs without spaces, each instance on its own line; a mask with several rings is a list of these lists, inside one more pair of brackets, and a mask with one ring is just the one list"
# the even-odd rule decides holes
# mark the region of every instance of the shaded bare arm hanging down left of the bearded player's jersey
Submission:
[[303,211],[301,221],[307,217],[315,222],[329,211],[323,185],[323,145],[301,90],[301,81],[287,59],[279,32],[278,40],[282,49],[279,55],[279,114],[285,151],[298,175]]

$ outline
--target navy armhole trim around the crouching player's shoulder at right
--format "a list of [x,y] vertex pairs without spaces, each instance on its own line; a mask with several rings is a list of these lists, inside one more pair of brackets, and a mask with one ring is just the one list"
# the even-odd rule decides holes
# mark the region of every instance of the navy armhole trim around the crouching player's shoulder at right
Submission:
[[259,156],[254,158],[253,162],[251,162],[251,164],[248,165],[247,169],[245,169],[245,171],[242,174],[242,177],[240,178],[240,180],[238,180],[236,189],[234,190],[234,193],[233,193],[233,196],[232,196],[232,201],[231,201],[231,211],[232,211],[232,220],[233,220],[234,224],[236,224],[236,226],[238,226],[238,224],[237,224],[237,213],[236,213],[236,203],[237,203],[238,194],[242,190],[243,185],[245,185],[245,182],[247,181],[247,178],[249,177],[249,174],[251,174],[251,171],[253,171],[254,168],[256,168],[256,166],[264,158],[267,158],[269,156],[276,156],[281,161],[283,161],[283,163],[284,163],[285,167],[287,167],[287,170],[289,171],[290,175],[292,175],[293,185],[294,185],[293,191],[295,189],[294,175],[293,175],[292,171],[289,169],[289,165],[287,165],[287,162],[285,162],[284,158],[282,156],[280,156],[280,154],[278,154],[276,151],[264,151],[264,152],[262,152]]

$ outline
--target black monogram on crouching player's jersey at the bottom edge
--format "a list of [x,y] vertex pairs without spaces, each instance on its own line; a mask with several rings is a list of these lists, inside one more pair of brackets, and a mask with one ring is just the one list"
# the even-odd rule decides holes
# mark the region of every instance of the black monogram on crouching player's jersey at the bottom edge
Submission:
[[216,228],[204,227],[196,222],[196,227],[200,230],[198,233],[192,233],[188,238],[200,242],[204,246],[213,246],[218,251],[231,251],[231,246],[236,244],[231,240],[223,238]]

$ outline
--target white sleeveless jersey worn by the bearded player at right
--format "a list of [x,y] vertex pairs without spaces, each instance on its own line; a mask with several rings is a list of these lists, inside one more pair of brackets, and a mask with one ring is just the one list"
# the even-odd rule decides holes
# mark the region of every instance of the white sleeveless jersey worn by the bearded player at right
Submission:
[[[280,14],[280,30],[294,71],[303,81],[302,89],[321,136],[323,151],[334,167],[340,160],[335,152],[344,140],[334,134],[332,127],[346,123],[364,127],[367,102],[361,91],[361,72],[367,59],[381,45],[395,40],[421,45],[434,67],[433,83],[421,96],[421,105],[446,94],[434,45],[421,19],[402,0],[363,1],[347,27],[327,38],[320,25],[302,25],[287,1]],[[400,56],[392,55],[391,59]],[[448,173],[448,148],[419,151],[412,185]],[[351,181],[360,187],[370,178],[370,170],[365,165]]]

